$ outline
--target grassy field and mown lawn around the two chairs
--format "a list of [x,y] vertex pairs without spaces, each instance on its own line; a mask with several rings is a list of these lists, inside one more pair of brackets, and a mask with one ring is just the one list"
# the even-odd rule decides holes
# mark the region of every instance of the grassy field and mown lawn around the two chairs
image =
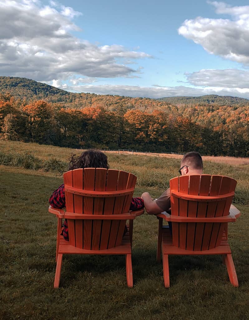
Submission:
[[[0,142],[0,151],[32,153],[66,163],[75,150]],[[135,196],[153,197],[178,174],[179,159],[109,155],[111,168],[138,176]],[[204,162],[205,173],[238,180],[236,206],[242,216],[230,224],[229,238],[239,288],[231,286],[218,256],[171,256],[171,287],[163,286],[157,264],[157,219],[147,214],[134,222],[133,277],[128,289],[124,256],[66,255],[60,288],[53,289],[56,268],[56,219],[48,198],[62,183],[57,172],[0,165],[2,248],[0,318],[2,319],[248,319],[249,202],[248,165]]]

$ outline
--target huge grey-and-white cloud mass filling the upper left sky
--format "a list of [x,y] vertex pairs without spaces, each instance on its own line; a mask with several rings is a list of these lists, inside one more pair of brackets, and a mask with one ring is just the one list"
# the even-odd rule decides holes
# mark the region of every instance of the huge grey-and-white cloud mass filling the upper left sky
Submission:
[[127,60],[150,58],[122,45],[96,45],[72,36],[71,21],[81,13],[56,1],[0,1],[0,71],[38,81],[86,77],[136,77]]

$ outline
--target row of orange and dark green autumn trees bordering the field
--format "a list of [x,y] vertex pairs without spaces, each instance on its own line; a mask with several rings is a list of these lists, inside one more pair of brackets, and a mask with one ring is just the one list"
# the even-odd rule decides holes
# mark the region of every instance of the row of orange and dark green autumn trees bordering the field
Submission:
[[71,148],[249,156],[249,107],[61,108],[0,94],[0,139]]

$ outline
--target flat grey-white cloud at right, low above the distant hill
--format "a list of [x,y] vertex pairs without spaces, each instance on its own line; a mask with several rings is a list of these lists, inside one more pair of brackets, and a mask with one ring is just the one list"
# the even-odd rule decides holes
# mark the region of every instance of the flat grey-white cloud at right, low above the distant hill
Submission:
[[190,84],[196,86],[223,87],[223,88],[249,88],[249,70],[224,69],[200,70],[186,74]]

